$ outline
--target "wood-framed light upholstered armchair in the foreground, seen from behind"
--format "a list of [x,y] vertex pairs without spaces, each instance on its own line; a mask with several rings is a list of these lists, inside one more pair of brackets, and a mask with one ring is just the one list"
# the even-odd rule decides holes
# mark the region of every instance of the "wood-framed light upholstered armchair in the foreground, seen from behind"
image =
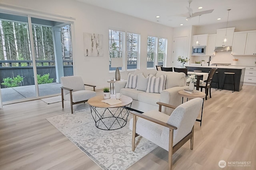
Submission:
[[[172,154],[188,140],[190,140],[190,149],[193,149],[194,123],[200,113],[202,102],[201,98],[194,98],[176,108],[157,102],[159,111],[152,110],[142,114],[131,111],[130,113],[133,115],[130,120],[132,151],[136,152],[135,137],[141,135],[168,151],[168,169],[171,170]],[[169,116],[161,112],[162,106],[175,109]]]

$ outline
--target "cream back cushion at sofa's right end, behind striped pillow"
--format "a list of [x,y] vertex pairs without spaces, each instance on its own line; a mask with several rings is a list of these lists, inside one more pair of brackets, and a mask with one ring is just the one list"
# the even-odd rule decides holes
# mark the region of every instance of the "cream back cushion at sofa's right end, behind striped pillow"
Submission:
[[186,82],[185,82],[186,74],[184,72],[158,71],[156,73],[156,78],[164,74],[166,74],[165,89],[172,88],[175,86],[186,86]]

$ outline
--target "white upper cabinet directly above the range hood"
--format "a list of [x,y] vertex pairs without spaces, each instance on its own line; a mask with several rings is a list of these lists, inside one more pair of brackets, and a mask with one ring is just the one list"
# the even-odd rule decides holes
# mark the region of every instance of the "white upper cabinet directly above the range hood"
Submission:
[[[232,46],[235,27],[217,29],[216,47]],[[227,42],[224,43],[226,37]]]

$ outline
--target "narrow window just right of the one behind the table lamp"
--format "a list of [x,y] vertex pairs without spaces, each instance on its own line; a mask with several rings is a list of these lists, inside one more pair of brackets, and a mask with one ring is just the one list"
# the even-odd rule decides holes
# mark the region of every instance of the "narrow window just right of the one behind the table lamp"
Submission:
[[127,69],[137,68],[138,34],[127,33]]

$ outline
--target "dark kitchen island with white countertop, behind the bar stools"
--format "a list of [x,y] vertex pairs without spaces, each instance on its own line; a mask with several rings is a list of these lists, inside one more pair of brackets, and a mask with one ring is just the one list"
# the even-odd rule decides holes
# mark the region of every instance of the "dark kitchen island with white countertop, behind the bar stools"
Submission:
[[[218,71],[218,81],[220,84],[220,87],[222,87],[223,78],[224,78],[224,72],[234,72],[235,75],[235,91],[239,92],[242,90],[242,86],[244,83],[244,72],[245,67],[244,66],[223,66],[223,65],[204,65],[204,64],[189,64],[186,66],[188,68],[188,71],[194,71],[194,70],[202,70],[202,72],[209,72],[211,68],[218,68],[216,71]],[[216,74],[213,77],[213,82],[217,82],[217,76]],[[223,86],[224,90],[233,90],[233,78],[232,76],[226,76],[226,81]],[[216,88],[218,84],[212,84],[212,88]]]

